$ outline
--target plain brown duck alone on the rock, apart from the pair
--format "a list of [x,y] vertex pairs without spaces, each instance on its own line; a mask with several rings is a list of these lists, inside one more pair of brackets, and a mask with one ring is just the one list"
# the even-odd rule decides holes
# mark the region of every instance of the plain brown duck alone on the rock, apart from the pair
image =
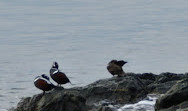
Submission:
[[123,65],[128,63],[124,60],[111,60],[108,63],[107,70],[109,73],[111,73],[113,76],[118,75],[118,77],[124,76],[125,72],[123,71]]

